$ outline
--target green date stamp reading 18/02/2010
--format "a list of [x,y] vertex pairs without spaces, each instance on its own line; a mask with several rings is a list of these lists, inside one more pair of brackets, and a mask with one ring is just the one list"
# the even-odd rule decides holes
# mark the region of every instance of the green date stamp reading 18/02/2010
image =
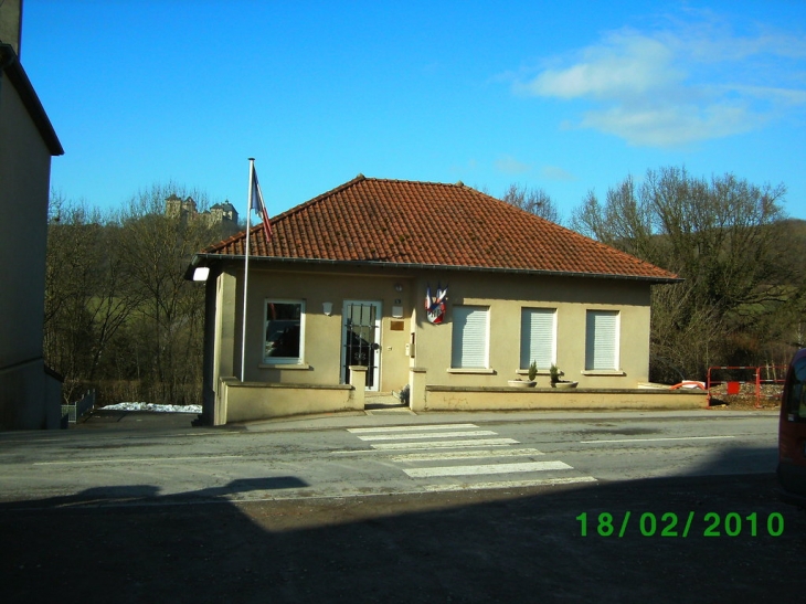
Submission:
[[598,515],[582,512],[576,517],[580,522],[580,536],[624,537],[640,534],[643,537],[677,537],[701,534],[702,537],[781,537],[784,533],[784,517],[775,511],[760,517],[756,512],[742,516],[731,511],[720,515],[713,511],[702,513],[689,511],[678,515],[667,511],[657,515],[651,511],[633,513],[625,511],[618,518],[603,511]]

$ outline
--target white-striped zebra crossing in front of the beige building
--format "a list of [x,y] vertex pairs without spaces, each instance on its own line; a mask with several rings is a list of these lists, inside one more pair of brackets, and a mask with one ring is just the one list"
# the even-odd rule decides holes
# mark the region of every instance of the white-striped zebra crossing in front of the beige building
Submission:
[[[476,424],[431,424],[423,426],[379,426],[347,428],[413,479],[439,479],[424,490],[489,489],[592,483],[559,459],[544,459],[533,447],[517,447],[520,442],[501,437]],[[431,449],[431,451],[428,451]],[[510,479],[468,481],[490,475]],[[511,479],[518,476],[519,479]],[[450,480],[454,479],[452,483]],[[464,481],[455,481],[455,480]]]

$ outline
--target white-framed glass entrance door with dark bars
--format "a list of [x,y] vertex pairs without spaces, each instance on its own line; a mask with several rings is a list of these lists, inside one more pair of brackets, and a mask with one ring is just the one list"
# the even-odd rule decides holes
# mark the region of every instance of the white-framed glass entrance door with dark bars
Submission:
[[367,390],[377,391],[381,378],[381,303],[344,300],[341,315],[341,383],[350,383],[350,365],[367,369]]

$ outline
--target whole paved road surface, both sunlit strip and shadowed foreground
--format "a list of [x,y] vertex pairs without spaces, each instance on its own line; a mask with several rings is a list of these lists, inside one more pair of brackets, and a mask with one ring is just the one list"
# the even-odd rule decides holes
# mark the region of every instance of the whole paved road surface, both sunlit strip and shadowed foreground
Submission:
[[115,424],[0,434],[4,601],[778,602],[806,590],[806,518],[775,497],[770,413]]

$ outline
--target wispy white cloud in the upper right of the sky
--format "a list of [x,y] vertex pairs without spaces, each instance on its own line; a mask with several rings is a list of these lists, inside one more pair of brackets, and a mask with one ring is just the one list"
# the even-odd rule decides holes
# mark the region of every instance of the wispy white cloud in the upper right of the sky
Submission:
[[554,59],[517,93],[591,104],[576,126],[630,145],[669,147],[762,127],[806,107],[806,42],[781,32],[733,35],[715,19],[624,29]]

